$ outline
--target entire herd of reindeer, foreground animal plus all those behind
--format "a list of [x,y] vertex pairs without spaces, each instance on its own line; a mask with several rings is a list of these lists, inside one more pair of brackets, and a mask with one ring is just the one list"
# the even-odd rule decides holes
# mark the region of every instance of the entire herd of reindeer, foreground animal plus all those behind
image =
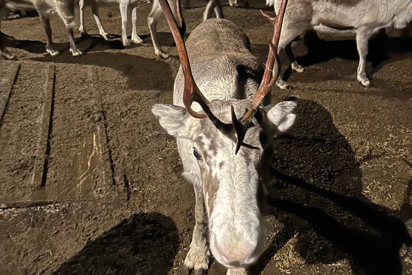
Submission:
[[[405,28],[412,20],[410,0],[267,0],[275,17],[272,22],[265,66],[250,52],[250,42],[231,21],[222,19],[220,0],[209,0],[204,21],[186,42],[182,11],[187,1],[154,0],[147,22],[155,52],[168,54],[159,45],[156,24],[162,12],[178,49],[180,69],[176,75],[173,104],[155,104],[152,113],[160,125],[177,139],[183,175],[193,183],[195,220],[185,267],[194,274],[208,269],[211,256],[228,268],[228,275],[245,275],[246,267],[264,250],[262,209],[269,179],[268,160],[272,141],[295,122],[296,102],[271,105],[274,85],[287,88],[279,78],[279,50],[285,49],[294,71],[303,71],[291,51],[291,42],[305,30],[356,35],[358,81],[370,85],[365,73],[368,40],[382,28]],[[131,10],[131,41],[141,43],[136,32],[137,0],[80,0],[80,31],[86,33],[83,11],[90,5],[100,34],[105,39],[98,8],[115,2],[122,17],[122,42],[126,37],[127,14]],[[238,5],[230,0],[231,5]],[[242,5],[247,5],[247,2]],[[70,52],[80,55],[73,39],[75,0],[0,0],[0,20],[11,10],[35,9],[47,36],[46,51],[53,48],[49,14],[59,14],[67,27]],[[218,18],[210,19],[215,11]],[[7,35],[0,33],[0,39]],[[13,58],[1,42],[2,56]]]

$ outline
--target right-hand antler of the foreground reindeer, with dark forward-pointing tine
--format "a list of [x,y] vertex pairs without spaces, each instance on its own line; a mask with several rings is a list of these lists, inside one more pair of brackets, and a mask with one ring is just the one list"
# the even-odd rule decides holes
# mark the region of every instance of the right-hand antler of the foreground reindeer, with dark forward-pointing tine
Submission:
[[[250,124],[252,116],[255,115],[260,103],[262,103],[262,101],[265,99],[265,96],[272,90],[275,81],[279,78],[280,61],[277,53],[277,47],[279,45],[283,16],[285,14],[287,2],[288,0],[282,0],[278,15],[275,17],[271,17],[268,14],[264,13],[262,10],[260,10],[260,13],[262,13],[262,15],[266,19],[271,21],[274,25],[274,33],[272,41],[269,41],[269,54],[267,55],[265,72],[263,73],[262,82],[260,82],[258,92],[256,92],[255,97],[253,98],[252,108],[248,110],[246,115],[244,115],[243,118],[241,118],[241,120],[236,119],[236,115],[234,114],[234,111],[232,109],[232,120],[237,135],[237,144],[235,151],[236,153],[238,152],[242,144],[242,141],[246,135],[246,131],[248,129],[248,125]],[[273,76],[272,72],[274,72]],[[236,122],[234,121],[234,119],[236,119]]]

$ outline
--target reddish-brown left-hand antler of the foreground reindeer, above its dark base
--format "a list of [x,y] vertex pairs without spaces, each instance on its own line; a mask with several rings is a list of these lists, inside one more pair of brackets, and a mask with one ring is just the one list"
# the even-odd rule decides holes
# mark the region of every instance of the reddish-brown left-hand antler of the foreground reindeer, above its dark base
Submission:
[[[178,17],[179,21],[182,23],[182,27],[185,24],[183,20],[183,16],[180,9],[180,1],[177,0],[176,2],[177,8],[179,9]],[[176,20],[173,16],[173,13],[170,9],[169,3],[167,0],[159,0],[160,6],[162,7],[162,11],[164,17],[166,18],[167,24],[169,25],[170,31],[173,35],[173,39],[176,43],[176,48],[178,49],[180,64],[182,65],[183,75],[185,77],[185,88],[183,91],[183,104],[185,105],[187,112],[192,115],[194,118],[207,118],[207,115],[199,114],[192,110],[192,102],[196,101],[200,104],[202,109],[205,110],[204,107],[207,108],[207,104],[209,101],[204,97],[204,95],[200,92],[199,88],[194,82],[192,70],[190,69],[190,62],[189,56],[187,56],[187,50],[185,46],[185,42],[183,41],[182,35],[180,34],[180,30],[178,25],[176,24]],[[208,108],[207,108],[208,109]]]

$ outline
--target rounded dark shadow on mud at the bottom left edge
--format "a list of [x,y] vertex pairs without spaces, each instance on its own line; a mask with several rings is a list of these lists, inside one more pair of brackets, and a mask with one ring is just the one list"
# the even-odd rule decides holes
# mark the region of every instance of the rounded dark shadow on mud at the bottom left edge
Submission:
[[165,275],[173,266],[179,237],[173,221],[142,213],[89,241],[53,275]]

